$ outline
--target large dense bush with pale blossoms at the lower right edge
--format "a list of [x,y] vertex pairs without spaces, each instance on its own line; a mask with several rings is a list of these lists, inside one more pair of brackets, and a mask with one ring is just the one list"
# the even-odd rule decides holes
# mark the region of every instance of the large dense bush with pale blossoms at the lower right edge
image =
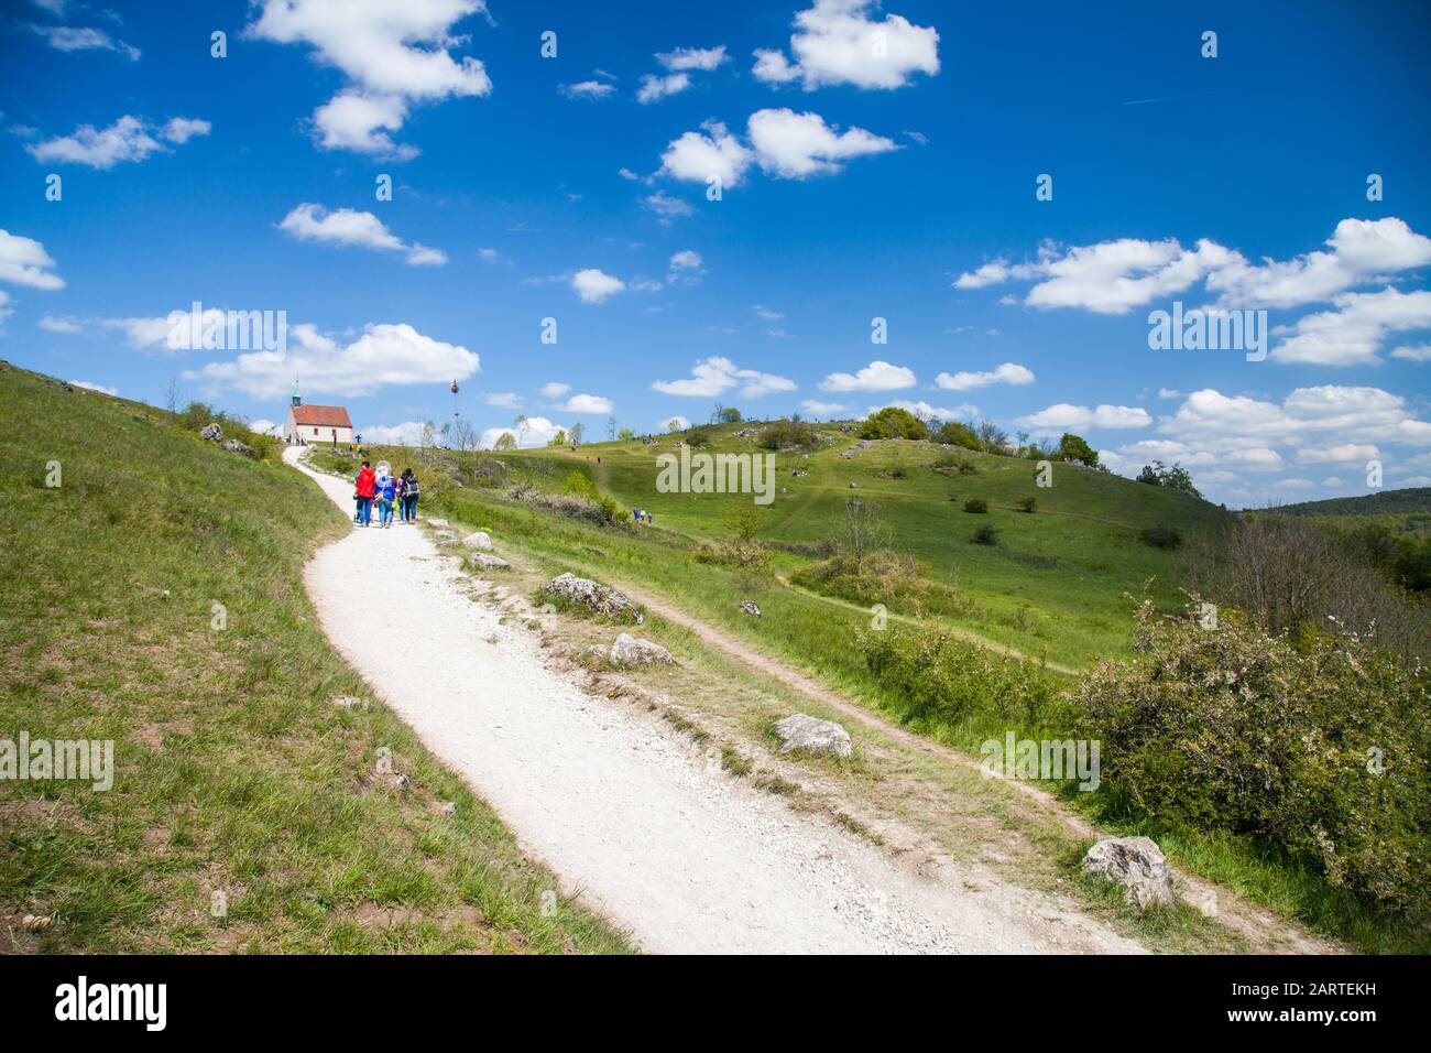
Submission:
[[1431,918],[1431,689],[1418,666],[1345,636],[1268,636],[1139,616],[1139,658],[1079,681],[1080,734],[1146,812],[1264,837],[1334,885]]

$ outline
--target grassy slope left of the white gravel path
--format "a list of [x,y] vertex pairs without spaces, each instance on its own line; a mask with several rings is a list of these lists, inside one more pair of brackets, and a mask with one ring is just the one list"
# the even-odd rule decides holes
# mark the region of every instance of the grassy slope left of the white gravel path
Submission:
[[302,564],[342,516],[166,421],[0,367],[0,738],[117,751],[109,792],[0,782],[0,951],[624,950],[542,917],[551,874],[329,648]]

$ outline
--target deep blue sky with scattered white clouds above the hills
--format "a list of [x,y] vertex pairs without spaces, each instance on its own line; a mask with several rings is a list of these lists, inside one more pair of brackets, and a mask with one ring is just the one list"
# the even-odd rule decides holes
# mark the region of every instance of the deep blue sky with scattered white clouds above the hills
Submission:
[[[1431,486],[1431,16],[1188,7],[16,0],[0,355],[366,437],[456,375],[488,441],[900,403],[1232,506]],[[195,301],[286,354],[170,347]],[[1271,352],[1152,350],[1173,301]]]

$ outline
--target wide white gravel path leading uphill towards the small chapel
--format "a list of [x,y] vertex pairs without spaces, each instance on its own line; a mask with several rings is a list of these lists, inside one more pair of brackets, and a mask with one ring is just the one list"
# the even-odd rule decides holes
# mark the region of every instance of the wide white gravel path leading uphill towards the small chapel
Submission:
[[[285,458],[296,461],[296,450]],[[352,486],[311,471],[345,513]],[[474,603],[416,527],[352,530],[305,572],[329,639],[501,814],[524,851],[648,951],[1135,953],[1055,934],[1027,893],[975,901],[705,764],[637,708],[552,672],[532,633]],[[515,602],[515,600],[514,600]]]

